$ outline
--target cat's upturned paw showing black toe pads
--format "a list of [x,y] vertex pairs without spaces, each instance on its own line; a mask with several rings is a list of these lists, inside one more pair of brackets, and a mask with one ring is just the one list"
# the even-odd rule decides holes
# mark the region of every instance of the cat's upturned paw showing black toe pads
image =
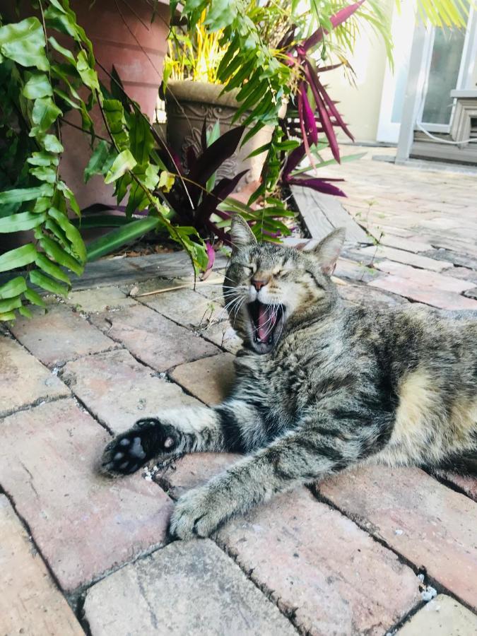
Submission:
[[129,475],[150,459],[174,452],[178,446],[179,434],[173,426],[155,418],[138,420],[133,428],[107,444],[100,471],[107,475]]

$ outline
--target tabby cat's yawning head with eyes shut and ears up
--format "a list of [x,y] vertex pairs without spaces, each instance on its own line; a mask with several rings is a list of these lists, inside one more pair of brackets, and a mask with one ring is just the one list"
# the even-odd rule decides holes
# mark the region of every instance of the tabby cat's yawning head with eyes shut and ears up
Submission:
[[335,230],[312,252],[257,244],[245,221],[232,221],[232,257],[223,285],[230,322],[244,341],[269,353],[290,319],[299,322],[334,298],[331,273],[343,245]]

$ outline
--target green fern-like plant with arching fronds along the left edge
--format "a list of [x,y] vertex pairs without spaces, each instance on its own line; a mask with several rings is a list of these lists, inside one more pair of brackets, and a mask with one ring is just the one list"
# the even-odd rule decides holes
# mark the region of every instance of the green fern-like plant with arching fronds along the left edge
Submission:
[[[69,36],[71,45],[61,45],[57,33]],[[81,276],[87,260],[151,230],[167,232],[197,269],[205,269],[206,247],[196,230],[173,225],[170,209],[154,194],[163,170],[156,153],[160,140],[139,107],[122,99],[120,84],[115,95],[100,86],[93,47],[67,0],[40,0],[38,17],[0,26],[0,78],[0,233],[33,232],[27,245],[0,256],[0,272],[12,276],[0,287],[0,320],[16,312],[30,316],[28,303],[43,305],[35,288],[66,295],[71,274]],[[102,115],[105,139],[96,136],[93,107]],[[94,148],[86,179],[100,173],[114,183],[118,201],[127,197],[126,224],[88,251],[81,223],[70,218],[81,211],[59,172],[60,124],[70,109],[81,113]],[[147,211],[148,218],[134,218],[138,211]],[[18,269],[26,273],[18,276]]]

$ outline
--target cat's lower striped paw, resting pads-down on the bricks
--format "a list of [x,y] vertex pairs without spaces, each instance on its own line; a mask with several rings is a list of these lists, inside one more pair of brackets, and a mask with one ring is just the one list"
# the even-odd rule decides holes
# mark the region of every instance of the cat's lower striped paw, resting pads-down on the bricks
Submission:
[[178,500],[170,518],[169,534],[184,540],[206,537],[229,516],[225,501],[221,504],[220,497],[207,486],[194,488]]

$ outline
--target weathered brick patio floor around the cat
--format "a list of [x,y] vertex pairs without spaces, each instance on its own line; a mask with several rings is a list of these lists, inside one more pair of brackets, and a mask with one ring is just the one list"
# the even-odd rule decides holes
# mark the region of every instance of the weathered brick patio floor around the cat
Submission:
[[[341,294],[477,310],[477,175],[379,153],[327,170],[379,238],[348,246]],[[131,298],[190,281],[175,255],[88,271],[67,302],[0,333],[1,636],[477,634],[473,478],[363,469],[167,544],[174,500],[235,457],[189,456],[153,479],[95,466],[136,418],[220,401],[240,341],[220,285]]]

